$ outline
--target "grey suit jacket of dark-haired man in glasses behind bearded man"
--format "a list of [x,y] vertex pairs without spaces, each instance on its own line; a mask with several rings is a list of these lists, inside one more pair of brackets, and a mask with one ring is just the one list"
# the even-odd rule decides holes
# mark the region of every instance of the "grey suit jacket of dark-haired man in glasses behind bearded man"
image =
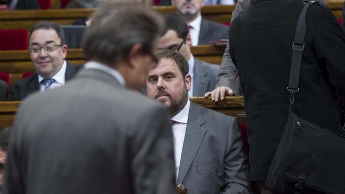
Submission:
[[219,65],[209,64],[194,58],[193,96],[204,96],[217,84]]

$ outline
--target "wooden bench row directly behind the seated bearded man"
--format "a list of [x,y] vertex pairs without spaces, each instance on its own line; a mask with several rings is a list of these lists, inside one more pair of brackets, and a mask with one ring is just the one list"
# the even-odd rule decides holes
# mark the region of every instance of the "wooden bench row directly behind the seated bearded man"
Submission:
[[[194,103],[211,108],[220,113],[238,117],[241,124],[246,123],[244,114],[244,100],[242,96],[226,97],[223,102],[217,104],[213,103],[210,98],[192,97],[190,98]],[[14,120],[14,115],[20,105],[21,101],[0,101],[0,128],[11,126]]]

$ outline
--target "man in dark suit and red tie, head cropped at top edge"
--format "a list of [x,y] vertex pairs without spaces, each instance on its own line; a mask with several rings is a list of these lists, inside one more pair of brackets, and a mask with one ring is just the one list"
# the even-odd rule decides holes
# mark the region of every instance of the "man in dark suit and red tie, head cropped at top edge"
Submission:
[[192,46],[228,38],[227,26],[201,17],[204,0],[171,0],[171,3],[188,23]]

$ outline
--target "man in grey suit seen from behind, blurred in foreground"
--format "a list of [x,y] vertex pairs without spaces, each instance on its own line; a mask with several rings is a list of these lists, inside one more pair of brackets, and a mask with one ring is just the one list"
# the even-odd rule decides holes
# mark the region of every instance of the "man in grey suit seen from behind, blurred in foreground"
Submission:
[[4,194],[176,192],[168,113],[134,91],[156,64],[164,23],[130,0],[109,1],[92,19],[85,69],[19,108]]

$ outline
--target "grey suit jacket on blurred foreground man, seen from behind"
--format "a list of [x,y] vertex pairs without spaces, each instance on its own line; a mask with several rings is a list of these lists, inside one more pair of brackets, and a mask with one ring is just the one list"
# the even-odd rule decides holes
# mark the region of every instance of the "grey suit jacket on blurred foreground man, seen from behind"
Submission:
[[24,100],[6,165],[8,194],[175,192],[167,110],[96,69]]

